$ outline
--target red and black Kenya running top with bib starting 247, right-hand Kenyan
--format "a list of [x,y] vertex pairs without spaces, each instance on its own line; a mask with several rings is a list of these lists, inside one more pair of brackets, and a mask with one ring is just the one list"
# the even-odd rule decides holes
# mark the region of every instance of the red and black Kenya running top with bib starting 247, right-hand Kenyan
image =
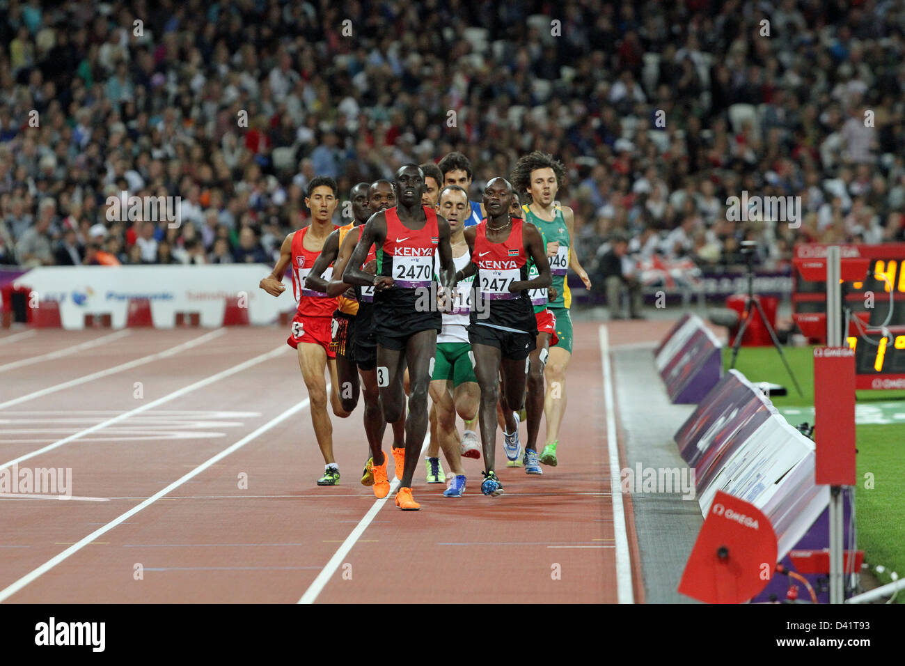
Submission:
[[[472,263],[478,271],[474,276],[474,289],[476,295],[488,304],[484,306],[484,314],[472,306],[471,323],[526,332],[537,328],[528,291],[512,293],[509,290],[513,282],[528,279],[529,256],[525,252],[522,229],[522,219],[512,217],[509,236],[502,243],[493,243],[487,238],[486,218],[475,227]],[[475,303],[474,299],[472,303]]]

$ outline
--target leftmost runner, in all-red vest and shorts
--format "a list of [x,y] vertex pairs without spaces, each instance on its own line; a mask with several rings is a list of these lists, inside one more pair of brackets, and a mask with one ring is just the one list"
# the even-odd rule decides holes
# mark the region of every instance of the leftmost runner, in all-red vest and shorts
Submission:
[[[291,266],[292,292],[299,299],[299,306],[292,319],[291,333],[286,342],[298,351],[299,367],[310,399],[311,423],[318,439],[320,453],[324,457],[324,476],[318,479],[319,486],[335,486],[339,481],[339,466],[333,457],[333,424],[327,412],[327,381],[324,372],[330,372],[330,404],[333,413],[346,418],[349,412],[343,410],[339,399],[336,354],[329,351],[332,340],[330,324],[338,299],[311,289],[305,285],[311,267],[320,255],[327,237],[336,226],[333,211],[338,205],[337,184],[331,178],[311,179],[305,206],[311,211],[308,227],[293,231],[283,239],[280,258],[271,275],[263,278],[260,287],[273,296],[279,296],[286,287],[282,277]],[[324,271],[329,280],[332,268]]]

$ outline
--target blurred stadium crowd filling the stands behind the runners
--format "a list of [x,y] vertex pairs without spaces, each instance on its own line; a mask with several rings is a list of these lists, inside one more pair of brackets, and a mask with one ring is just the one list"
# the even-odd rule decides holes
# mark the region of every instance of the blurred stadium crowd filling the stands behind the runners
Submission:
[[[592,280],[620,242],[716,270],[744,239],[772,268],[905,239],[898,0],[0,9],[3,264],[270,264],[315,175],[346,198],[452,150],[477,200],[519,155],[561,159]],[[121,191],[179,197],[181,224],[111,219]],[[800,227],[728,220],[743,191],[800,197]]]

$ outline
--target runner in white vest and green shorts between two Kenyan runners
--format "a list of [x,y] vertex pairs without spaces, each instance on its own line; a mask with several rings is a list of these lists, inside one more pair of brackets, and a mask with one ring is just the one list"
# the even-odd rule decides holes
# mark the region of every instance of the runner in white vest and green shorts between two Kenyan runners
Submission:
[[[450,225],[452,262],[457,271],[462,270],[472,260],[462,226],[468,212],[468,193],[458,185],[443,188],[440,192],[439,211]],[[434,270],[438,270],[438,266],[434,265]],[[447,308],[449,312],[443,311],[443,331],[437,337],[437,357],[431,378],[431,400],[437,420],[434,436],[443,447],[443,455],[455,475],[443,493],[445,497],[462,497],[465,492],[462,456],[478,458],[481,455],[478,435],[472,430],[472,424],[478,418],[481,392],[472,368],[472,345],[465,330],[471,312],[472,281],[473,278],[467,278],[456,285],[452,303]],[[462,439],[455,426],[457,413],[465,421],[466,430]],[[432,463],[428,458],[428,465]]]

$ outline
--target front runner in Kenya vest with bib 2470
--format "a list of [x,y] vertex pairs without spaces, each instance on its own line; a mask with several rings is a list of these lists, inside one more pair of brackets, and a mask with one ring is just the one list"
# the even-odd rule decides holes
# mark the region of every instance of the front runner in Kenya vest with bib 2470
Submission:
[[[416,164],[406,164],[396,171],[394,188],[395,208],[379,211],[367,221],[342,279],[350,285],[375,287],[377,385],[384,418],[391,422],[405,413],[403,375],[406,362],[408,365],[411,394],[405,420],[405,459],[395,504],[412,511],[420,508],[412,497],[412,477],[427,430],[427,394],[437,333],[443,323],[436,306],[434,251],[440,256],[444,289],[454,286],[455,269],[449,224],[433,208],[421,204],[424,172]],[[377,248],[376,276],[359,267],[372,245]]]

